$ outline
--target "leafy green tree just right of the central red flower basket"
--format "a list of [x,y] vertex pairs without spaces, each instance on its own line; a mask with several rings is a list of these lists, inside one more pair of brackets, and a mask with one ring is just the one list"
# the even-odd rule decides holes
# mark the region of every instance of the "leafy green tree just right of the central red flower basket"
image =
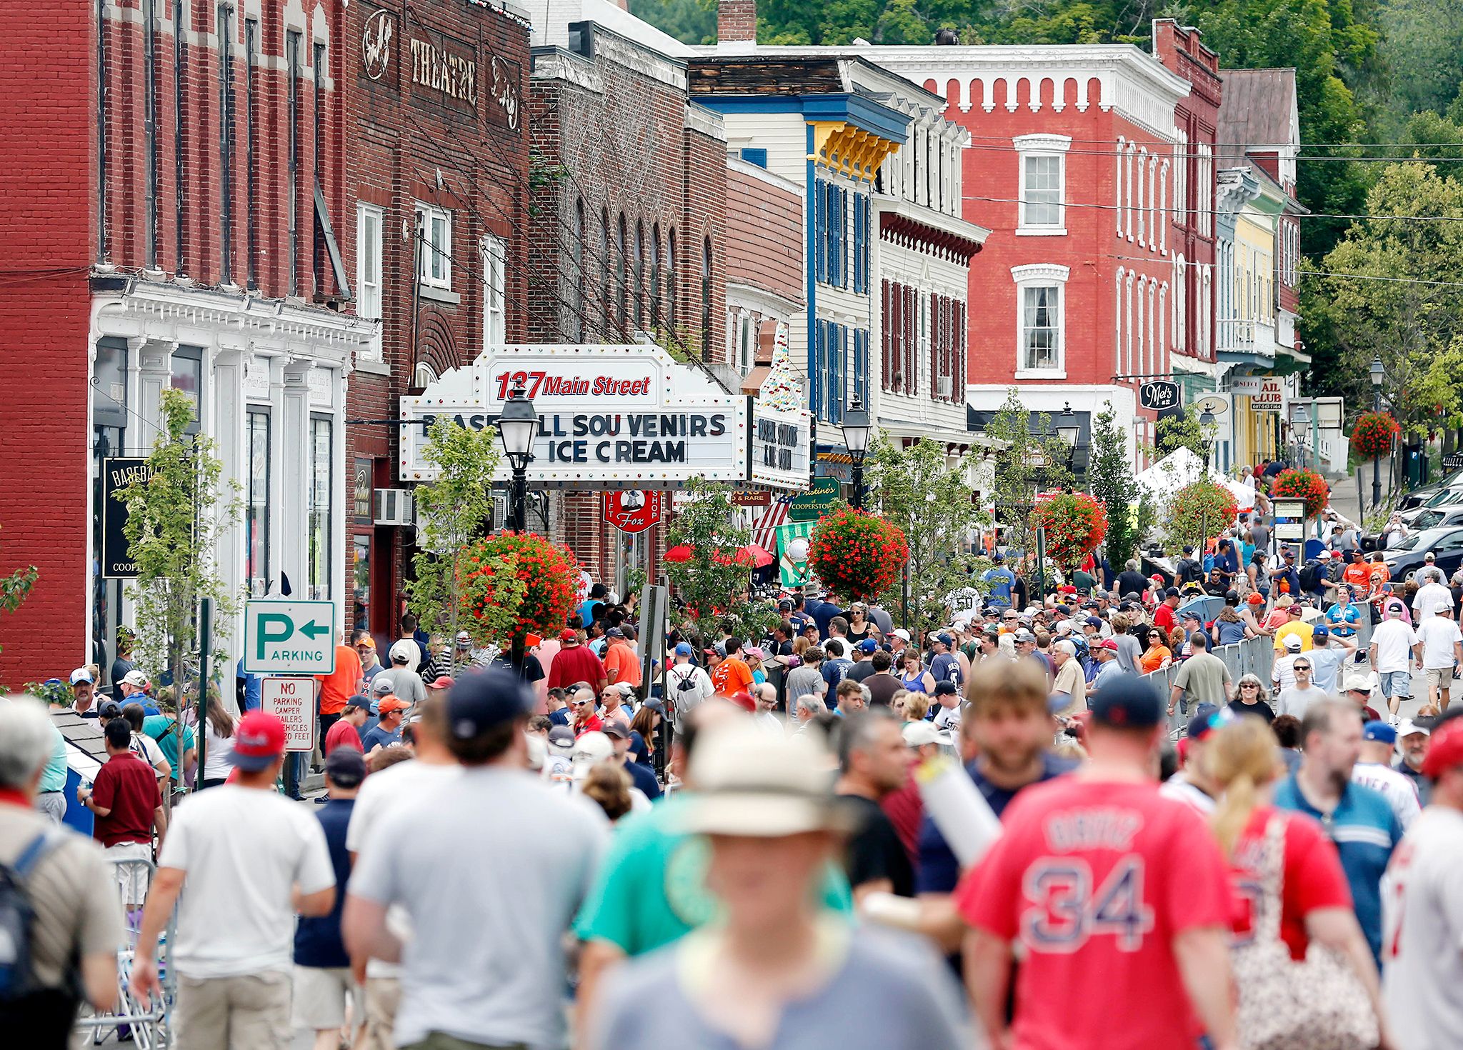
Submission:
[[[909,447],[879,439],[865,461],[869,503],[884,521],[904,531],[910,547],[910,623],[923,638],[949,623],[949,595],[988,589],[990,562],[971,551],[974,529],[988,521],[967,481],[966,458],[951,462],[945,446],[922,437]],[[885,608],[901,608],[903,586],[881,595]]]

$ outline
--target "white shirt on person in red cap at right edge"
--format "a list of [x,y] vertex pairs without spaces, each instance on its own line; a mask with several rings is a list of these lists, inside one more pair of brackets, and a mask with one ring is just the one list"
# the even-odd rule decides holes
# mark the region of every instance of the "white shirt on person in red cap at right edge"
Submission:
[[1463,1047],[1463,813],[1429,806],[1383,877],[1383,997],[1404,1050]]

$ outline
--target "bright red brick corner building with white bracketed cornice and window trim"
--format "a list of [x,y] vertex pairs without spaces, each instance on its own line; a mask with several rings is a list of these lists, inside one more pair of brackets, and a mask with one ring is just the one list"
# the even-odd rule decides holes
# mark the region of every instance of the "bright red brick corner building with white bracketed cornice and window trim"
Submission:
[[[1131,45],[859,50],[970,133],[964,218],[992,230],[970,271],[971,427],[1017,385],[1033,412],[1071,405],[1078,464],[1106,402],[1137,450],[1154,437],[1141,377],[1214,367],[1214,57],[1189,31],[1159,35],[1178,72]],[[1204,99],[1186,102],[1191,80]]]

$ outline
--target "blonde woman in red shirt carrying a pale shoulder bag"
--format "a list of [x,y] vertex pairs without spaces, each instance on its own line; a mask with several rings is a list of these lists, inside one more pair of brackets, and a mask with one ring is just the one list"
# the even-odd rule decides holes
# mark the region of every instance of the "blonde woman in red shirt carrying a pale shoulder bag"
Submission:
[[[1235,895],[1248,902],[1248,914],[1235,921],[1232,945],[1239,977],[1241,1043],[1248,1046],[1246,1034],[1254,1038],[1254,1032],[1245,1030],[1246,1016],[1263,1018],[1273,1006],[1273,1002],[1261,1002],[1265,989],[1258,981],[1245,980],[1246,972],[1258,974],[1258,967],[1241,964],[1242,952],[1267,948],[1265,937],[1270,937],[1270,951],[1274,951],[1273,939],[1279,937],[1292,962],[1339,964],[1349,970],[1361,984],[1356,992],[1365,990],[1384,1032],[1377,964],[1352,911],[1352,894],[1336,847],[1320,823],[1271,803],[1271,788],[1285,775],[1285,763],[1270,727],[1260,718],[1225,719],[1222,715],[1220,721],[1223,724],[1207,737],[1200,762],[1223,791],[1210,820],[1229,858]],[[1312,945],[1330,958],[1321,962],[1318,952],[1308,951]],[[1267,974],[1268,978],[1277,975],[1283,971]],[[1391,1046],[1391,1041],[1381,1040],[1381,1046]]]

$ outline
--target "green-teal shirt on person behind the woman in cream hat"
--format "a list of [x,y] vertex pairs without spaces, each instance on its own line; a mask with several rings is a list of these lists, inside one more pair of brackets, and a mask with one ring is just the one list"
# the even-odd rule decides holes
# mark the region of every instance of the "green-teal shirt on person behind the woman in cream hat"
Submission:
[[[644,955],[717,917],[720,905],[705,888],[711,848],[680,831],[689,803],[676,794],[619,822],[575,920],[579,940],[609,940],[626,955]],[[822,899],[834,911],[853,911],[841,869],[830,866]]]

